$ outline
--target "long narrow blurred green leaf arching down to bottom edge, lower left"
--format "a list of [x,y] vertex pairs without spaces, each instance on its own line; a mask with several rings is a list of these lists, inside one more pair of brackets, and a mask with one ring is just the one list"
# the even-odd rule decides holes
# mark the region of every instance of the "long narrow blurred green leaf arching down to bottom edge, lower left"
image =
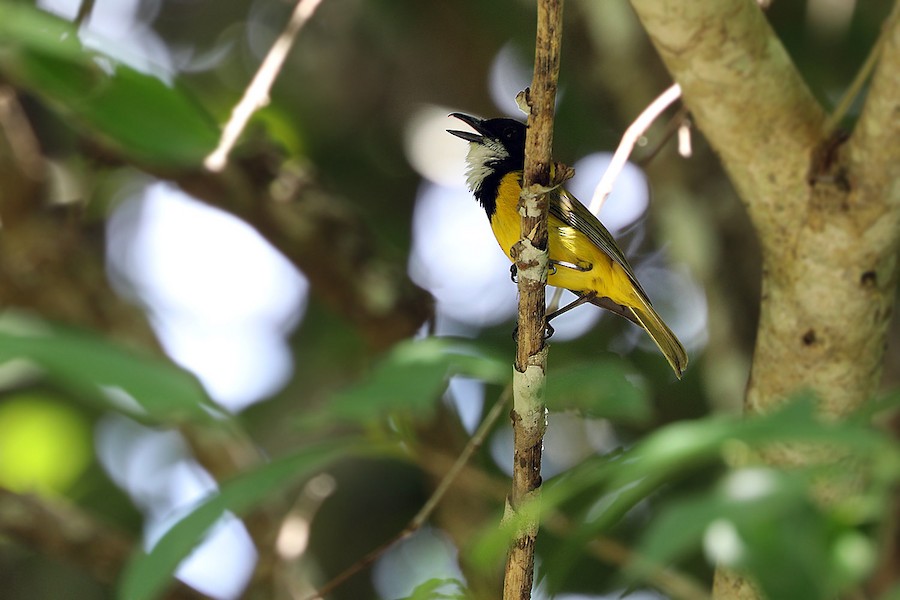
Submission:
[[138,550],[132,555],[117,597],[122,600],[161,597],[181,561],[226,512],[241,517],[299,479],[357,451],[359,447],[347,440],[304,448],[223,483],[217,493],[175,523],[149,553]]

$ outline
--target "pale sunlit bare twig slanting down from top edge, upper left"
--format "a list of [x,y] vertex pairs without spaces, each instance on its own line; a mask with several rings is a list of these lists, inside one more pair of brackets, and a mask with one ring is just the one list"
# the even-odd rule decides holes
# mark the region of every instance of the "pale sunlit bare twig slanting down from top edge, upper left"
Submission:
[[235,142],[241,135],[244,127],[246,127],[247,121],[250,120],[254,112],[269,103],[269,90],[272,89],[275,78],[281,72],[281,67],[284,65],[288,52],[290,52],[297,39],[297,34],[300,33],[300,30],[312,17],[320,2],[321,0],[299,0],[297,2],[290,21],[288,21],[287,26],[285,26],[281,35],[278,36],[278,39],[275,40],[275,43],[272,44],[271,50],[269,50],[266,58],[259,66],[256,75],[253,76],[253,81],[244,90],[244,96],[241,98],[241,101],[238,102],[231,112],[231,118],[222,130],[219,145],[203,161],[203,165],[210,171],[221,171],[225,168],[225,163],[228,161],[228,153],[231,152],[232,147],[234,147]]

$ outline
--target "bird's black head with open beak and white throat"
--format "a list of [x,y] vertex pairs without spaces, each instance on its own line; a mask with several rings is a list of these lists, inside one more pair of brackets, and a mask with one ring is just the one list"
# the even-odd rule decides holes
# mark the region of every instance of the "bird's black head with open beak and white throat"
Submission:
[[450,116],[477,132],[447,130],[469,142],[466,183],[490,215],[500,180],[510,171],[524,167],[525,124],[514,119],[479,119],[463,113]]

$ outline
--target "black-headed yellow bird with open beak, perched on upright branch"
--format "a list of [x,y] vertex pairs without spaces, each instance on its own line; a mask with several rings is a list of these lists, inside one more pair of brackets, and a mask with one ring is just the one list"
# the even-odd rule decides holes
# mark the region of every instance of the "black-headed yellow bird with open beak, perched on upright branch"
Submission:
[[[491,230],[507,258],[521,235],[518,211],[525,165],[526,126],[508,118],[480,119],[464,113],[451,117],[475,132],[448,129],[469,142],[466,184],[484,208]],[[688,355],[678,338],[654,310],[634,269],[612,234],[575,196],[558,186],[549,193],[547,284],[565,288],[578,298],[547,315],[547,321],[576,306],[591,303],[640,326],[665,356],[678,379]],[[548,328],[552,332],[552,328]]]

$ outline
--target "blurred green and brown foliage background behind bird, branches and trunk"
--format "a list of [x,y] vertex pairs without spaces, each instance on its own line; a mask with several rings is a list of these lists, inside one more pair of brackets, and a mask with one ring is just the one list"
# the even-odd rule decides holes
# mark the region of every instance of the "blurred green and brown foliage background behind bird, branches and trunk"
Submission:
[[[216,598],[306,597],[403,530],[507,383],[515,286],[443,130],[516,115],[533,3],[323,0],[233,166],[204,173],[292,9],[0,2],[4,599],[199,597],[164,589],[176,567]],[[768,16],[833,106],[889,9]],[[587,200],[671,81],[627,2],[566,10],[554,152]],[[601,217],[691,366],[674,381],[593,307],[560,320],[536,597],[702,597],[717,560],[772,598],[888,593],[886,418],[738,418],[759,251],[702,137],[666,141],[675,110]],[[496,597],[510,437],[501,419],[426,527],[329,597]],[[797,439],[849,449],[866,485],[823,507],[828,467],[731,468]]]

